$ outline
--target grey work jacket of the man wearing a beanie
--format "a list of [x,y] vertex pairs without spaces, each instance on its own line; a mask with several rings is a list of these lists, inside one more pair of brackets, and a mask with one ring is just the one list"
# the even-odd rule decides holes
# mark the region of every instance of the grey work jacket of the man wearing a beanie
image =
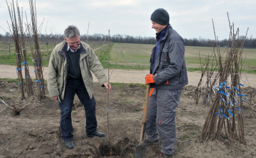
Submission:
[[185,45],[181,35],[178,35],[171,25],[167,26],[166,35],[159,43],[159,53],[154,64],[156,45],[151,52],[150,74],[154,74],[155,83],[151,88],[181,89],[188,84],[188,74],[184,59]]

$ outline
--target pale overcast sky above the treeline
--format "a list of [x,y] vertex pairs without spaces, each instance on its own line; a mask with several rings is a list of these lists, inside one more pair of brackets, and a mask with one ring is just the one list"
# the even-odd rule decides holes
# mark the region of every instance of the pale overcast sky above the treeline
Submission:
[[[11,0],[7,0],[11,4]],[[14,0],[14,3],[16,0]],[[10,22],[6,0],[1,0],[0,26],[8,30]],[[18,0],[18,5],[30,18],[28,0]],[[256,1],[255,0],[37,0],[38,26],[43,21],[41,33],[63,34],[69,25],[78,26],[80,33],[101,33],[108,35],[132,35],[154,37],[151,28],[151,13],[163,8],[169,12],[171,26],[183,38],[228,39],[230,23],[239,28],[239,35],[256,38]],[[23,13],[25,19],[25,13]],[[213,22],[212,22],[213,19]],[[25,20],[24,20],[25,21]],[[47,28],[47,29],[46,29]],[[0,28],[0,33],[5,34]]]

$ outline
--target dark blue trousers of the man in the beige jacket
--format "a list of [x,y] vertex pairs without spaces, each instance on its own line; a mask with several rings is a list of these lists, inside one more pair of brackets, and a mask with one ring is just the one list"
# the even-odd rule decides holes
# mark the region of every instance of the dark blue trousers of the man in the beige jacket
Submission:
[[85,89],[85,84],[82,79],[68,79],[65,85],[64,100],[60,106],[60,130],[63,140],[71,140],[73,138],[73,125],[71,120],[71,112],[75,94],[78,95],[81,103],[85,107],[86,125],[85,130],[87,135],[92,135],[96,132],[97,120],[95,113],[96,101],[90,96]]

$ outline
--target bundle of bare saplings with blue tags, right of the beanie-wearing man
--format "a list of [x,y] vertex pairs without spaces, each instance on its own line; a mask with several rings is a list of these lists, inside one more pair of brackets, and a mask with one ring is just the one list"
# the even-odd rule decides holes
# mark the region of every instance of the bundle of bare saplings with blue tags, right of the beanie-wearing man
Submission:
[[[229,16],[228,21],[230,24]],[[215,35],[213,53],[208,56],[205,66],[201,62],[202,75],[195,91],[195,103],[199,101],[201,82],[206,77],[206,91],[203,91],[202,104],[211,106],[201,132],[202,141],[219,139],[221,132],[225,132],[225,137],[229,140],[245,143],[242,108],[244,103],[250,105],[251,101],[248,101],[243,93],[244,85],[241,84],[242,79],[240,79],[245,60],[242,57],[245,39],[240,40],[239,28],[236,31],[234,28],[234,23],[230,24],[227,47],[224,52],[220,52],[213,23]],[[248,82],[245,81],[245,83]]]

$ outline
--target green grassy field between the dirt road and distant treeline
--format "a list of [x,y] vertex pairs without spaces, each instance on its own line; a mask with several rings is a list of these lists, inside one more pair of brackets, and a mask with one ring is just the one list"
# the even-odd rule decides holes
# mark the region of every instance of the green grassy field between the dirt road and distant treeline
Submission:
[[[54,45],[50,45],[49,52],[53,50]],[[103,67],[107,68],[108,50],[110,48],[110,68],[114,69],[149,69],[149,57],[154,45],[113,43],[95,51]],[[213,53],[213,47],[189,47],[186,46],[185,59],[188,71],[200,70],[201,62],[205,62],[208,55]],[[220,47],[220,53],[223,58],[228,50]],[[46,45],[41,43],[41,52],[43,52],[43,66],[48,66]],[[201,56],[201,61],[199,57]],[[217,52],[215,50],[215,52]],[[256,74],[256,49],[243,49],[242,55],[244,63],[242,72]],[[31,53],[28,53],[28,63],[32,64]],[[16,64],[15,47],[11,45],[11,54],[9,54],[9,45],[3,41],[0,43],[0,64]]]

